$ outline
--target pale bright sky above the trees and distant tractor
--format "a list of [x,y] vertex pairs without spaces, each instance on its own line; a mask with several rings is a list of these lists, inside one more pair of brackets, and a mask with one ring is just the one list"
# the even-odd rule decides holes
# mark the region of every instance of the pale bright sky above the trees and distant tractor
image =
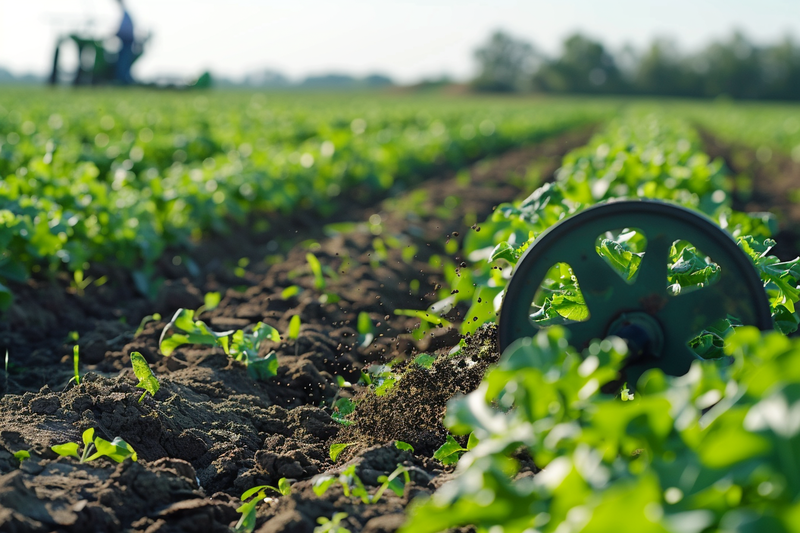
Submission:
[[[152,33],[134,74],[240,77],[264,69],[292,78],[384,73],[409,83],[474,73],[473,51],[504,29],[555,53],[582,31],[613,48],[655,36],[684,50],[736,28],[757,43],[800,41],[800,0],[127,0],[137,32]],[[110,35],[115,0],[0,0],[0,67],[43,74],[59,35]],[[66,56],[68,54],[64,54]],[[62,57],[64,57],[62,56]],[[67,57],[67,60],[70,58]]]

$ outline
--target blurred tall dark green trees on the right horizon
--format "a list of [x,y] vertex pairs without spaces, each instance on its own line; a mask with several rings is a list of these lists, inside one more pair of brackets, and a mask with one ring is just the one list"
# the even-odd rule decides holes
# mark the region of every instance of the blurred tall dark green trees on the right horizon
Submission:
[[575,34],[557,57],[522,39],[494,33],[475,52],[479,91],[800,100],[800,46],[791,37],[758,46],[742,33],[682,53],[669,39],[645,50],[627,46],[612,53]]

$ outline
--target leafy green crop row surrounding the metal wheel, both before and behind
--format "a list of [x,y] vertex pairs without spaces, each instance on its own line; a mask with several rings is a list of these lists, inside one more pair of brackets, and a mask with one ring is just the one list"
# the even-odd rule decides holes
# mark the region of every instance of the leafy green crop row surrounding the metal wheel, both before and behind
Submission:
[[[500,294],[508,265],[541,231],[615,196],[665,198],[715,217],[753,258],[778,328],[796,328],[800,276],[796,261],[767,255],[770,219],[733,212],[723,169],[694,132],[653,116],[613,123],[565,158],[555,182],[481,224],[466,241],[468,276],[479,284],[472,316],[493,318],[497,300],[481,307],[479,298]],[[625,273],[641,256],[616,244],[627,252],[619,255]],[[709,262],[690,264],[708,281]],[[553,277],[551,294],[574,289],[570,272]],[[698,358],[679,378],[650,370],[635,392],[623,386],[616,395],[602,391],[627,352],[619,339],[594,341],[583,354],[559,326],[518,341],[475,392],[448,405],[445,425],[470,434],[472,445],[455,479],[417,502],[403,531],[797,531],[800,343],[731,325],[716,333],[732,364]],[[543,470],[521,472],[523,456]]]

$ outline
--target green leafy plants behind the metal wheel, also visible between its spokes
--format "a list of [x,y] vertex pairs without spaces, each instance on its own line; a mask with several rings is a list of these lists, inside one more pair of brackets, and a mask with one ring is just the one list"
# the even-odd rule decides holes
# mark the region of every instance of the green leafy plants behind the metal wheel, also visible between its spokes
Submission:
[[[556,180],[534,191],[517,204],[502,204],[471,232],[464,242],[468,269],[451,275],[451,291],[465,284],[471,307],[461,324],[472,333],[496,320],[500,299],[511,268],[543,231],[587,206],[619,197],[668,200],[699,210],[714,218],[753,260],[771,296],[772,316],[778,330],[795,331],[800,315],[794,303],[800,299],[798,261],[780,262],[769,256],[774,241],[774,221],[764,214],[745,214],[730,208],[730,184],[720,162],[712,162],[700,149],[697,133],[677,118],[632,110],[610,123],[583,148],[564,157]],[[632,280],[646,254],[642,237],[635,231],[607,234],[596,251],[620,275]],[[669,253],[668,289],[678,294],[713,283],[720,269],[691,243],[673,243]],[[572,270],[559,264],[546,276],[534,302],[532,319],[541,326],[584,320],[589,310]],[[461,294],[456,295],[463,298]],[[450,298],[450,296],[448,296]],[[446,301],[446,300],[443,300]],[[439,304],[436,304],[438,306]],[[434,307],[436,307],[434,306]],[[738,325],[732,320],[709,327],[690,343],[704,358],[719,358],[723,338]]]

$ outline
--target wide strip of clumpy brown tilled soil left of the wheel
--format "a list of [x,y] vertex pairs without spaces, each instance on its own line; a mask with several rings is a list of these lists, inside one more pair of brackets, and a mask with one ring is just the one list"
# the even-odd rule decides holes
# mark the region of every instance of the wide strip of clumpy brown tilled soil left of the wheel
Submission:
[[[300,231],[273,220],[271,232],[242,228],[210,239],[188,256],[165,257],[159,273],[166,281],[153,302],[126,273],[110,268],[93,271],[108,278],[101,286],[82,289],[67,279],[15,286],[19,296],[0,326],[0,348],[10,361],[0,376],[0,530],[230,531],[242,492],[285,477],[293,492],[260,505],[259,532],[310,533],[317,518],[340,511],[348,513],[342,525],[351,531],[395,531],[408,502],[448,478],[450,469],[431,459],[445,440],[445,404],[477,386],[497,350],[493,333],[483,331],[449,356],[457,332],[438,329],[416,341],[408,332],[419,320],[394,311],[434,303],[444,279],[432,258],[447,256],[447,240],[478,231],[475,220],[536,185],[530,168],[552,175],[563,154],[588,135],[566,134],[428,180],[373,208],[356,206],[351,220],[358,224],[323,232],[324,221],[306,221]],[[308,253],[328,269],[324,290],[315,286]],[[457,253],[452,259],[459,262]],[[237,267],[242,257],[249,263]],[[292,286],[298,291],[289,296],[284,290]],[[296,341],[261,348],[262,355],[277,352],[276,377],[255,381],[241,363],[209,347],[161,355],[166,319],[178,308],[199,308],[209,291],[223,292],[222,302],[200,318],[217,330],[264,321],[285,332],[291,317],[300,317]],[[165,319],[135,336],[139,320],[156,311]],[[360,312],[377,329],[368,346],[356,331]],[[79,335],[80,384],[70,382],[70,331]],[[422,350],[437,357],[433,366],[398,363],[402,377],[386,395],[358,387],[342,392],[336,384],[336,376],[355,383],[370,364],[408,361]],[[161,383],[142,402],[132,351],[147,358]],[[358,407],[355,425],[345,426],[330,406],[350,394]],[[88,428],[107,440],[122,437],[139,461],[80,464],[50,450],[80,442]],[[414,452],[398,449],[396,440]],[[332,443],[350,444],[335,464]],[[30,459],[20,463],[13,456],[20,450],[30,451]],[[322,496],[311,488],[315,475],[357,465],[374,491],[378,477],[398,464],[411,468],[412,482],[402,496],[386,491],[377,504],[346,497],[338,486]]]

